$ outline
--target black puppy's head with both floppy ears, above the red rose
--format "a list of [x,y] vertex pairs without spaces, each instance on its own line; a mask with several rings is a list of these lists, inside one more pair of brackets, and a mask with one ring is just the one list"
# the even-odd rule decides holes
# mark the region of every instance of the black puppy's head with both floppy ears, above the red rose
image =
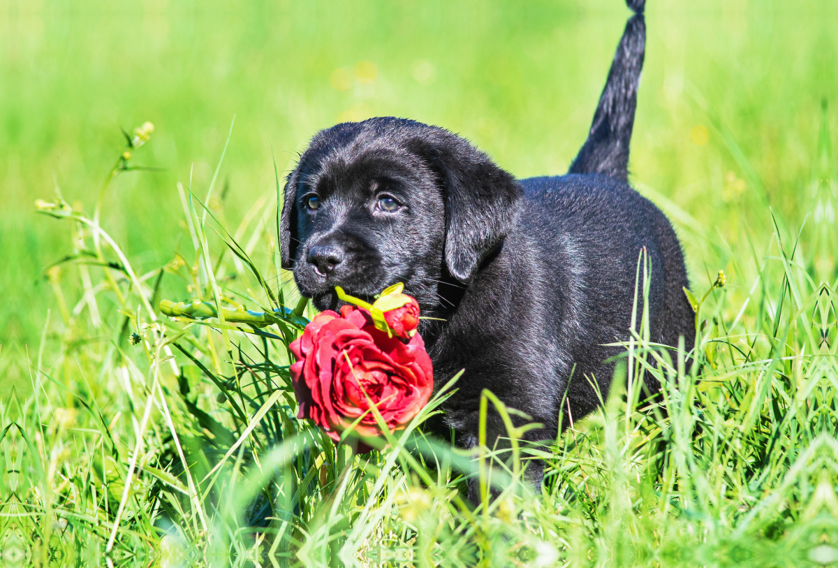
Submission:
[[521,189],[483,152],[442,128],[371,118],[313,138],[288,175],[282,267],[318,309],[334,287],[370,297],[405,282],[423,309],[443,275],[468,283],[518,212]]

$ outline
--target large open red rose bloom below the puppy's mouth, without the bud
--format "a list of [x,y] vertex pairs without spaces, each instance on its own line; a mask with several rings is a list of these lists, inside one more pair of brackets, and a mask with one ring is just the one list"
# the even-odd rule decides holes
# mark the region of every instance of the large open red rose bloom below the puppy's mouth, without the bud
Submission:
[[[404,428],[433,390],[431,358],[422,337],[414,334],[407,343],[389,337],[360,307],[341,307],[340,315],[318,314],[290,348],[297,357],[291,365],[297,417],[311,419],[334,441],[370,409],[370,400],[390,431]],[[380,434],[375,415],[367,412],[355,431]]]

